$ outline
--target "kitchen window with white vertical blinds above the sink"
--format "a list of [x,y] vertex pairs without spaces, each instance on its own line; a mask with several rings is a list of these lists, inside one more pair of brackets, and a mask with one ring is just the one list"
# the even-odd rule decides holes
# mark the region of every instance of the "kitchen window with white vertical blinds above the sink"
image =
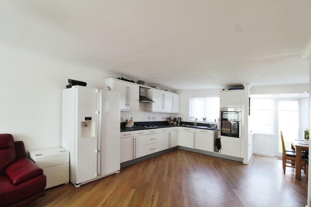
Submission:
[[219,97],[218,96],[195,96],[189,99],[189,117],[196,117],[198,121],[218,121],[219,118]]

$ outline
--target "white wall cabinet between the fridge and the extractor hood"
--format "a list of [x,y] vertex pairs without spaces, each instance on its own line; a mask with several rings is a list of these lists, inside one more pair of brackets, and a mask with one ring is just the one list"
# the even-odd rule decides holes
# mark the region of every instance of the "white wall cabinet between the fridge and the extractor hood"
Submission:
[[139,85],[114,78],[105,79],[106,87],[120,93],[120,109],[139,111]]

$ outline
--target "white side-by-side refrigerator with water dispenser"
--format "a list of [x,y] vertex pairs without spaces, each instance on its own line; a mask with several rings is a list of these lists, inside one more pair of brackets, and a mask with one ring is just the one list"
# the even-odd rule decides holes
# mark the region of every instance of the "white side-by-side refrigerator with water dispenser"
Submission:
[[120,171],[120,94],[73,86],[63,90],[62,147],[76,187]]

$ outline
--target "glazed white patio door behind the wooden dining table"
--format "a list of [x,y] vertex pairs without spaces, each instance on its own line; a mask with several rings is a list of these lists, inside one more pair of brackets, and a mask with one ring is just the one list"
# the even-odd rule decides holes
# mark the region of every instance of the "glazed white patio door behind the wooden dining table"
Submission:
[[292,139],[300,139],[300,100],[278,100],[276,110],[276,155],[282,156],[280,130],[283,133],[285,148],[291,149]]

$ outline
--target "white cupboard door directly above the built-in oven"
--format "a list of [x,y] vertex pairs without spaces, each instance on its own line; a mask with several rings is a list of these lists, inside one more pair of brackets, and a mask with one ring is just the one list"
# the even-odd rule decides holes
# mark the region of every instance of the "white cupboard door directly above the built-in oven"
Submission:
[[220,91],[220,107],[241,108],[241,90]]

